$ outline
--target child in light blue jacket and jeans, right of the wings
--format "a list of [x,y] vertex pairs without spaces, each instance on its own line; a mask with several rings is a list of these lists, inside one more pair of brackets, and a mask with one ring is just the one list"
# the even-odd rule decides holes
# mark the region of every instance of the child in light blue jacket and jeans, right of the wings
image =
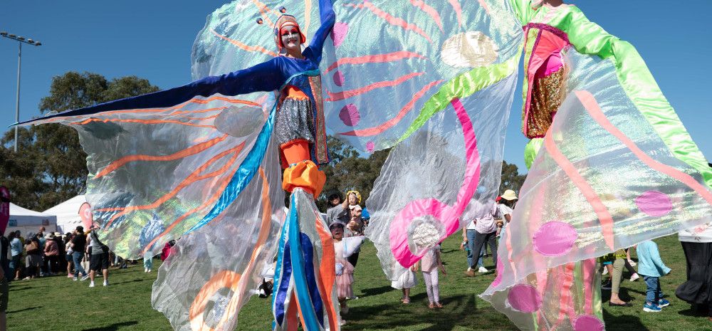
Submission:
[[670,273],[670,268],[665,266],[660,258],[658,246],[653,241],[643,241],[639,243],[638,252],[638,273],[643,276],[648,289],[645,293],[644,312],[659,312],[661,308],[670,305],[668,300],[663,299],[663,291],[660,289],[659,278]]

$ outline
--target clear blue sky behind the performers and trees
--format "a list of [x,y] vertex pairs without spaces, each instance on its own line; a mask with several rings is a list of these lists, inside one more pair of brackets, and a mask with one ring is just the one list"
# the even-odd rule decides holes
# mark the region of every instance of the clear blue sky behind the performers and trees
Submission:
[[[68,70],[100,73],[107,78],[137,75],[160,88],[188,83],[194,38],[206,15],[226,1],[3,2],[0,31],[43,43],[40,47],[23,46],[20,119],[27,120],[39,115],[37,105],[48,95],[51,78]],[[712,158],[712,28],[708,23],[712,1],[570,3],[636,46],[693,140],[708,159]],[[2,130],[15,118],[16,68],[16,42],[0,39]],[[505,159],[523,169],[526,140],[519,130],[520,95],[515,97],[507,130]]]

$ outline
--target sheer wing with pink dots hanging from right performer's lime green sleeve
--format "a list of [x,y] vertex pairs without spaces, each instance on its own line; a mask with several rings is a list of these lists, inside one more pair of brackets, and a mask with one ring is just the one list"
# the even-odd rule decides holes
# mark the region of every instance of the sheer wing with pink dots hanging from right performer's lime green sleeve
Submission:
[[603,330],[595,258],[710,221],[709,169],[632,46],[572,7],[532,15],[567,33],[565,96],[482,297],[522,330]]

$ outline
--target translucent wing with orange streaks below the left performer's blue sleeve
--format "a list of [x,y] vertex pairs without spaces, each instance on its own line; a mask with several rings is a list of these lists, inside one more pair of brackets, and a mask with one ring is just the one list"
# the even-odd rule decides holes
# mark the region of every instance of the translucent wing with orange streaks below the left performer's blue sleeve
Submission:
[[[187,85],[34,120],[74,127],[87,152],[87,201],[117,255],[140,258],[219,214],[238,171],[254,177],[269,142],[267,95],[197,95]],[[222,207],[221,207],[222,208]],[[209,221],[206,219],[204,223]]]

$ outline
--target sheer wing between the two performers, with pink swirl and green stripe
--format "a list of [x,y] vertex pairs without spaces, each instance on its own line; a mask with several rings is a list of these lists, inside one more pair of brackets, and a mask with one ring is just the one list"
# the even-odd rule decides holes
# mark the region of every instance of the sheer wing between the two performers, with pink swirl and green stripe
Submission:
[[392,280],[394,264],[411,266],[496,196],[522,37],[507,5],[335,4],[327,122],[365,152],[395,146],[366,202]]

